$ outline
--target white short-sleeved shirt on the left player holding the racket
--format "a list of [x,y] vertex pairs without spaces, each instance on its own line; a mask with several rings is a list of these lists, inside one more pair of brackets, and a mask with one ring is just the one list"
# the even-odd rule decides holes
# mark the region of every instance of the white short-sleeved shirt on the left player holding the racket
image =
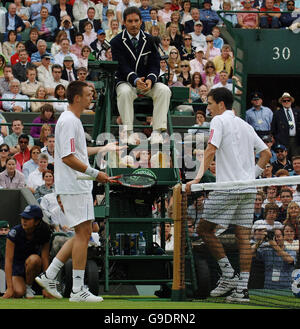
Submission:
[[[93,181],[77,180],[83,173],[73,170],[62,159],[74,154],[80,161],[89,165],[85,133],[81,120],[67,110],[60,115],[55,127],[54,181],[56,194],[91,193]],[[85,175],[84,175],[85,176]]]

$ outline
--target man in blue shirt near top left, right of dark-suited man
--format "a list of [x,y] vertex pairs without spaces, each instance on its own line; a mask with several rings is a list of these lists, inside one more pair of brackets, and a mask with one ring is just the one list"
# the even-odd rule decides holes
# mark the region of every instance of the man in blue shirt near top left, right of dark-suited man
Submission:
[[57,29],[56,19],[49,15],[49,11],[46,7],[42,7],[41,15],[34,22],[34,27],[39,30],[39,38],[48,42],[54,40],[54,32]]

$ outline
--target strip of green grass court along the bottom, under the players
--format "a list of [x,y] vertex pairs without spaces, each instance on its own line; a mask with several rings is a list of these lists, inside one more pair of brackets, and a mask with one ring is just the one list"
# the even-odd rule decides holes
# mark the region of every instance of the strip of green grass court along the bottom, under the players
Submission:
[[[225,303],[224,298],[184,302],[173,302],[170,299],[159,299],[153,296],[103,296],[103,298],[102,303],[70,303],[67,298],[57,300],[41,296],[36,296],[34,299],[0,299],[0,309],[270,309],[291,308],[295,304],[295,298],[288,296],[282,296],[280,300],[276,296],[276,301],[272,296],[268,298],[254,296],[248,305],[228,304]],[[270,301],[273,305],[270,305]]]

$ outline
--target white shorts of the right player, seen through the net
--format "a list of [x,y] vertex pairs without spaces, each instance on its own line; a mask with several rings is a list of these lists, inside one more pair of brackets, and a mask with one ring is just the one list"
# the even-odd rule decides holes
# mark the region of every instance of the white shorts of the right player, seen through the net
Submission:
[[227,227],[251,228],[256,193],[210,192],[205,201],[203,219]]

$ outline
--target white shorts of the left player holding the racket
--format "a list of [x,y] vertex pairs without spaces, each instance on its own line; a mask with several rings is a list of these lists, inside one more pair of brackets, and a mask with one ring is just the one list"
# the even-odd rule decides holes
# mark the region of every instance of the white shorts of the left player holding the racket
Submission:
[[67,225],[75,227],[87,220],[94,220],[94,202],[91,193],[60,194],[64,206]]

